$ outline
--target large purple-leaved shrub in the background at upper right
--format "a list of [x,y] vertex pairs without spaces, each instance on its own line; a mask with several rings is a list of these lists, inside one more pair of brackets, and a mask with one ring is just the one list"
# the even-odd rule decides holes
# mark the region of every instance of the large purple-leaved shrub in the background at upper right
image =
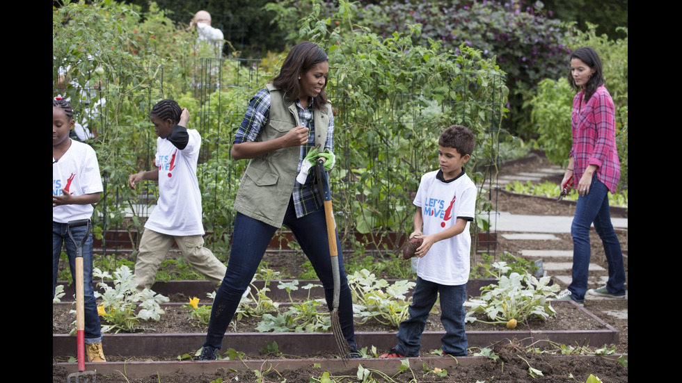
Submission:
[[[530,2],[528,2],[530,3]],[[462,43],[497,57],[507,73],[512,132],[532,136],[529,111],[524,104],[545,78],[566,74],[570,50],[564,45],[567,29],[541,5],[524,1],[384,1],[367,5],[360,15],[366,26],[378,34],[404,31],[407,24],[422,24],[415,44],[440,40],[444,49],[457,51]]]

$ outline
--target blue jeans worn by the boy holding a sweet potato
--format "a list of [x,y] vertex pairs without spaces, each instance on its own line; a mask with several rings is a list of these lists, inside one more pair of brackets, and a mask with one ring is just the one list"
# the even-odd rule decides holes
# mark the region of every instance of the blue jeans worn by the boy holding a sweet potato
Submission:
[[420,277],[417,277],[417,285],[412,294],[410,318],[403,320],[398,329],[395,350],[400,354],[406,357],[419,356],[419,340],[429,318],[429,311],[436,304],[438,293],[441,294],[441,323],[445,327],[445,335],[441,338],[443,352],[455,357],[466,357],[469,344],[464,331],[466,284],[446,286]]

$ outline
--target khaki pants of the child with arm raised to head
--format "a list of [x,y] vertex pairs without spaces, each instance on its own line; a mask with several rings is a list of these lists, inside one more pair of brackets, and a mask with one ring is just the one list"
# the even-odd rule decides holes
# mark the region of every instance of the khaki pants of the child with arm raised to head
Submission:
[[180,247],[182,256],[198,272],[209,279],[214,286],[219,286],[225,277],[225,265],[204,247],[202,236],[169,236],[145,229],[140,241],[140,252],[135,263],[135,284],[138,291],[152,288],[157,270],[166,259],[173,241]]

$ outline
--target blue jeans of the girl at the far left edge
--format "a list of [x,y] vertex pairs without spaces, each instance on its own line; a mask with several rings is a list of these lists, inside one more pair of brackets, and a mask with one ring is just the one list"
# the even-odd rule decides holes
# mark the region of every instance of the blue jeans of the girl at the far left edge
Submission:
[[[76,245],[71,241],[68,232],[68,224],[52,221],[52,298],[57,286],[57,268],[62,244],[66,245],[66,254],[69,256],[69,268],[71,277],[76,282]],[[71,234],[77,243],[81,243],[88,228],[77,226],[71,228]],[[85,343],[100,343],[102,341],[102,325],[100,316],[97,314],[97,302],[95,301],[95,289],[93,288],[93,236],[88,234],[83,244],[83,284],[85,306]]]

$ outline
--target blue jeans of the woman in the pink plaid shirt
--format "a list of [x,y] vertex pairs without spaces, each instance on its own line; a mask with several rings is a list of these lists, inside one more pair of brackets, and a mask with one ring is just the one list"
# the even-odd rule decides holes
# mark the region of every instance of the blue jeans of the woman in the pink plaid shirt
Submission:
[[609,279],[606,289],[613,295],[625,295],[625,268],[623,253],[618,236],[611,225],[608,188],[598,181],[596,173],[592,177],[589,193],[578,197],[576,215],[573,216],[571,236],[573,236],[573,280],[569,285],[571,298],[578,302],[585,300],[587,292],[587,268],[589,266],[589,227],[594,229],[604,245]]

